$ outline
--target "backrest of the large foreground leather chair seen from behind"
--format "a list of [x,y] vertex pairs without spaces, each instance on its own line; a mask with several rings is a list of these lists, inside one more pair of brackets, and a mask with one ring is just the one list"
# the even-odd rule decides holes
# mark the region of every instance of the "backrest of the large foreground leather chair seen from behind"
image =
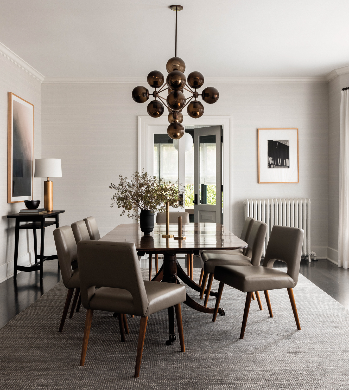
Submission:
[[89,302],[97,286],[127,290],[135,314],[144,317],[148,298],[134,243],[82,240],[77,244],[82,305]]

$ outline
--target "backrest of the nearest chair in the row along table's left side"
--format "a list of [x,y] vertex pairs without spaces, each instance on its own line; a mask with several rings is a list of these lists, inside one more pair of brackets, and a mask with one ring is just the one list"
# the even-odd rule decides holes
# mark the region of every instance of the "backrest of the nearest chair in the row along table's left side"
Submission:
[[73,275],[71,263],[78,259],[77,244],[73,230],[70,226],[57,227],[57,229],[53,230],[53,237],[55,239],[63,283],[67,286],[71,275]]

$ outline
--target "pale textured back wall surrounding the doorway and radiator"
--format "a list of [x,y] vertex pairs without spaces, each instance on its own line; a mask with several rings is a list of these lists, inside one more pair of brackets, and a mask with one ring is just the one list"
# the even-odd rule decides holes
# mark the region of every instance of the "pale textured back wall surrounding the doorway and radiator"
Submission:
[[[144,85],[146,80],[144,80]],[[43,83],[43,158],[62,159],[54,179],[54,208],[61,225],[94,215],[101,235],[131,222],[110,208],[122,174],[137,169],[137,116],[146,104],[131,98],[131,83]],[[246,197],[312,200],[312,249],[328,246],[328,86],[326,83],[228,83],[204,115],[233,119],[233,232],[240,235]],[[185,119],[183,121],[185,123]],[[299,184],[258,184],[257,128],[299,128]],[[46,238],[47,237],[47,238]],[[50,235],[46,245],[54,245]],[[47,239],[47,241],[46,241]],[[51,241],[49,241],[51,240]]]

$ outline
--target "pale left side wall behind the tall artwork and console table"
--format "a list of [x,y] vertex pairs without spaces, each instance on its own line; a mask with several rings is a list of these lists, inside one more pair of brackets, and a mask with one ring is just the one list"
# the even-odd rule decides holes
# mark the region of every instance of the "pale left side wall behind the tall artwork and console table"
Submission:
[[[34,104],[34,159],[41,158],[41,82],[0,53],[0,282],[13,274],[14,214],[24,203],[7,203],[7,110],[8,92]],[[34,179],[34,199],[41,199],[41,179]],[[28,265],[34,250],[32,231],[21,230],[18,265]],[[33,259],[34,261],[34,259]]]

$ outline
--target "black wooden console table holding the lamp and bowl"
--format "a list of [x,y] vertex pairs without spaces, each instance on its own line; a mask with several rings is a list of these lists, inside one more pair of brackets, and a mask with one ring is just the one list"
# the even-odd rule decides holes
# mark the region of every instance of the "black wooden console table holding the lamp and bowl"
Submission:
[[[45,256],[44,255],[44,242],[45,242],[45,227],[56,225],[59,227],[58,215],[64,213],[64,210],[48,211],[46,214],[41,215],[23,215],[23,213],[8,215],[7,218],[16,218],[16,230],[14,236],[14,266],[13,266],[13,279],[17,278],[17,271],[40,271],[40,279],[43,278],[44,261],[58,259],[57,255]],[[46,218],[55,218],[54,221],[46,221]],[[20,222],[31,222],[20,225]],[[30,267],[18,266],[18,240],[20,237],[20,229],[33,230],[34,235],[34,257],[35,264]],[[36,230],[41,229],[41,242],[40,242],[40,255],[37,254],[37,241]],[[39,260],[39,261],[38,261]]]

